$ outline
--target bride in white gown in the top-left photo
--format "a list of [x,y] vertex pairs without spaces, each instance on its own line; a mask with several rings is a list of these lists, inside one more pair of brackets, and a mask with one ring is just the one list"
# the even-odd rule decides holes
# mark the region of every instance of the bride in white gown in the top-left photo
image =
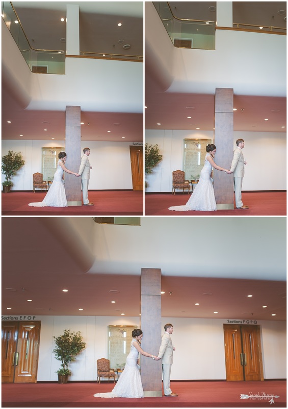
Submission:
[[46,196],[44,197],[43,201],[29,203],[29,206],[41,208],[45,206],[53,206],[56,208],[64,208],[68,206],[63,180],[64,171],[77,177],[80,175],[75,172],[72,172],[71,170],[65,167],[65,162],[67,159],[67,155],[65,152],[60,152],[58,157],[59,161],[57,164],[57,170],[54,174],[53,184],[48,190]]

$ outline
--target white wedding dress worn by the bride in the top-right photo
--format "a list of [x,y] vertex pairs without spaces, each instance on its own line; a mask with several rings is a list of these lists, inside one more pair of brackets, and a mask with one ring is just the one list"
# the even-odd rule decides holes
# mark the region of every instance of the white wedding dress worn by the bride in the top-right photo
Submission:
[[200,172],[199,182],[196,185],[188,202],[184,206],[171,206],[169,210],[177,212],[187,212],[189,210],[201,210],[203,212],[211,212],[217,210],[214,188],[212,184],[211,172],[213,166],[207,161],[205,156],[204,166]]

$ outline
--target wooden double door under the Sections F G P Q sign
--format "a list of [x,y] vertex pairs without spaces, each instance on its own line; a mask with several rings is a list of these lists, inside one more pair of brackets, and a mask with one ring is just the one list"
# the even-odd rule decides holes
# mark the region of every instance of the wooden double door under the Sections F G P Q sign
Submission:
[[264,380],[259,325],[224,324],[226,380]]

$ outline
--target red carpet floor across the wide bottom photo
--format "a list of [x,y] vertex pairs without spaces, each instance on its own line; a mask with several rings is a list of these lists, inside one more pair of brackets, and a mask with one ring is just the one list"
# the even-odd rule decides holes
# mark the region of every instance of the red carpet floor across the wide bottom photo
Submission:
[[[178,393],[177,397],[94,398],[94,393],[110,392],[113,385],[112,382],[4,383],[2,407],[286,407],[284,380],[172,381],[171,388]],[[249,398],[240,399],[241,395]],[[270,403],[268,395],[274,395],[274,403]]]

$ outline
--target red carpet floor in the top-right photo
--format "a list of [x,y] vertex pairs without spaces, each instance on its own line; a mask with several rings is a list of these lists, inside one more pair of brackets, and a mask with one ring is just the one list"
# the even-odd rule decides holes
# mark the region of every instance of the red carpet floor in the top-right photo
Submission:
[[[193,193],[192,193],[193,194]],[[146,193],[146,216],[285,216],[286,192],[243,192],[242,201],[249,209],[217,210],[215,212],[175,212],[170,206],[185,205],[187,193]]]

